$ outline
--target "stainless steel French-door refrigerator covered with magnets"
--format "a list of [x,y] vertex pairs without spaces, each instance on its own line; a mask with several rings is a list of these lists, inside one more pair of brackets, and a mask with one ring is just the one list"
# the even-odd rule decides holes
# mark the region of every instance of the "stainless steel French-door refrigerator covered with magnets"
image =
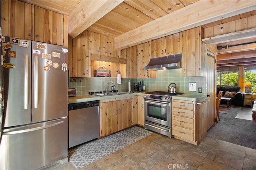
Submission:
[[67,160],[68,50],[15,37],[2,40],[0,169],[37,169]]

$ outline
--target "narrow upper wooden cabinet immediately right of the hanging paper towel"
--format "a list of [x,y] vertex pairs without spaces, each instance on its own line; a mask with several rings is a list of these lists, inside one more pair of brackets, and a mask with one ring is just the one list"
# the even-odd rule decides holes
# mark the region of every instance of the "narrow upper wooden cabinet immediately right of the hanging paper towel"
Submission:
[[126,50],[127,50],[126,77],[137,78],[137,46],[129,47]]

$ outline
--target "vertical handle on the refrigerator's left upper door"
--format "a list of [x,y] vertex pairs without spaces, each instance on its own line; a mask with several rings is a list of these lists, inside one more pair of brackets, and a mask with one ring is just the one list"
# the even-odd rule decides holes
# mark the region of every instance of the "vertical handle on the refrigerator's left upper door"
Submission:
[[24,109],[28,109],[28,55],[25,55]]

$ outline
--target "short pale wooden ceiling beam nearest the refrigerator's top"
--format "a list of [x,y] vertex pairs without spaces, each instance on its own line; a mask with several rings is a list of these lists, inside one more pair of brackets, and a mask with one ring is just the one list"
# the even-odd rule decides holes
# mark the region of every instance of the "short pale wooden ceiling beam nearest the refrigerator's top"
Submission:
[[[82,0],[68,16],[68,34],[76,37],[124,0]],[[114,20],[114,18],[113,18]]]

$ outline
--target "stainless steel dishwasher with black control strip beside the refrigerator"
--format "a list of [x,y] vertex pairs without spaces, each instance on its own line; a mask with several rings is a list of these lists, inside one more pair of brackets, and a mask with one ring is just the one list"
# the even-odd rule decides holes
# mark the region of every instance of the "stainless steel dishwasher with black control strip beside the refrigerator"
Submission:
[[100,135],[99,100],[68,104],[68,148]]

